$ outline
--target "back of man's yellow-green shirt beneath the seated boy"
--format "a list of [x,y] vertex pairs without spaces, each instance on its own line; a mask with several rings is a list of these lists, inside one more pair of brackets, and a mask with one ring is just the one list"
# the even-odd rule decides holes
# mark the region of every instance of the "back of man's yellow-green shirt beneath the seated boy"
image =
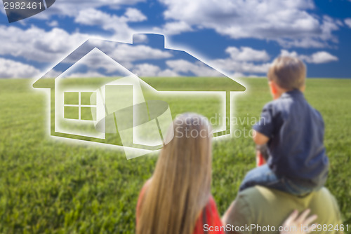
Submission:
[[[307,208],[310,208],[311,214],[318,216],[315,223],[321,226],[314,228],[316,233],[341,233],[340,211],[335,198],[326,188],[304,197],[263,186],[247,188],[237,195],[223,222],[233,225],[231,230],[234,231],[227,233],[279,233],[279,226],[293,209],[303,211]],[[326,229],[331,231],[324,231]]]

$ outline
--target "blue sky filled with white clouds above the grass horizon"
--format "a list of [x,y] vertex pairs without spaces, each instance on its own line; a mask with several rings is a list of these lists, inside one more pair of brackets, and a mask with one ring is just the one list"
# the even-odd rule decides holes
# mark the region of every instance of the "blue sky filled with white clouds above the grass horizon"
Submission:
[[[1,5],[0,78],[40,77],[88,39],[131,43],[144,32],[164,34],[167,48],[232,77],[265,76],[279,55],[300,57],[309,77],[351,77],[351,0],[56,0],[11,24]],[[198,69],[163,50],[127,47],[121,48],[127,67],[138,74]],[[163,67],[134,64],[142,54],[164,60]]]

